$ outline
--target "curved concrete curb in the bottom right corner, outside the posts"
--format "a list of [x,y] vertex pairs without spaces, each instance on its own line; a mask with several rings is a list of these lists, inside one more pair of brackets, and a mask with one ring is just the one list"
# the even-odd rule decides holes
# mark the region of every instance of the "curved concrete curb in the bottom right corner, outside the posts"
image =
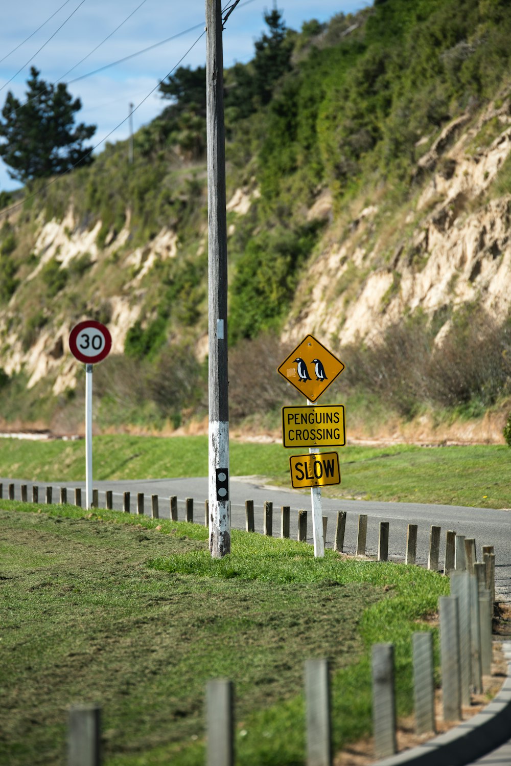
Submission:
[[511,643],[502,645],[507,678],[494,699],[469,721],[373,766],[467,766],[511,737]]

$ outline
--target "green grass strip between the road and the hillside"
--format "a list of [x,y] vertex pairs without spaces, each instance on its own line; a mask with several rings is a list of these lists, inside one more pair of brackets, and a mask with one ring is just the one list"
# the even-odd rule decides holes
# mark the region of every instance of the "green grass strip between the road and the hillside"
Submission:
[[[231,440],[232,476],[256,475],[290,486],[289,456],[280,444]],[[511,507],[511,451],[502,445],[464,447],[340,447],[341,483],[325,496]],[[0,474],[37,481],[78,481],[85,475],[83,441],[0,439]],[[207,437],[94,438],[94,478],[207,476]]]

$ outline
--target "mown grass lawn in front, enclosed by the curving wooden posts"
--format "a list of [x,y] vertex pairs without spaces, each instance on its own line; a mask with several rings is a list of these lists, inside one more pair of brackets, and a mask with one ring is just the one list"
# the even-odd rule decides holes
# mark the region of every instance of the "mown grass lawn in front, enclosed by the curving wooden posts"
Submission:
[[81,701],[102,705],[106,766],[203,764],[205,684],[222,676],[236,763],[298,766],[304,660],[330,658],[339,750],[371,731],[380,641],[395,644],[410,712],[411,634],[431,630],[421,618],[445,578],[236,530],[213,561],[206,538],[184,522],[0,501],[0,762],[63,763],[67,706]]

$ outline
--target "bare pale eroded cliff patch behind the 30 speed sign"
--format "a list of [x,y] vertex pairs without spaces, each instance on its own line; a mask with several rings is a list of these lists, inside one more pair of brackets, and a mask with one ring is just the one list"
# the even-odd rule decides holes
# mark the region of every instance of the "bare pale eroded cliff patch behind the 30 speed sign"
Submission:
[[[41,290],[41,272],[55,260],[62,270],[73,269],[73,262],[87,259],[89,282],[96,280],[96,292],[101,295],[102,311],[106,316],[107,326],[112,335],[112,353],[122,354],[125,337],[130,327],[140,316],[146,288],[142,280],[158,260],[175,257],[177,253],[177,234],[172,229],[164,228],[147,247],[130,249],[125,247],[129,241],[129,215],[125,227],[116,234],[106,237],[104,247],[98,247],[98,234],[102,221],[96,221],[93,228],[83,228],[76,220],[70,207],[63,221],[41,221],[37,229],[32,248],[32,259],[37,265],[29,270],[17,290],[11,297],[7,309],[0,313],[0,337],[2,353],[0,366],[8,375],[23,371],[28,377],[28,388],[47,378],[51,381],[54,394],[63,393],[76,386],[76,370],[80,363],[70,355],[68,339],[70,331],[81,319],[90,319],[90,312],[76,313],[75,307],[61,305],[54,300],[55,311],[45,325],[37,332],[37,337],[28,348],[20,332],[20,320],[23,317],[28,291]],[[105,265],[116,261],[116,271],[120,277],[116,283],[104,280]],[[80,276],[76,280],[76,295],[80,295]],[[90,291],[90,288],[89,288]],[[94,289],[87,296],[87,302],[97,303],[93,298]],[[72,299],[71,299],[72,300]]]

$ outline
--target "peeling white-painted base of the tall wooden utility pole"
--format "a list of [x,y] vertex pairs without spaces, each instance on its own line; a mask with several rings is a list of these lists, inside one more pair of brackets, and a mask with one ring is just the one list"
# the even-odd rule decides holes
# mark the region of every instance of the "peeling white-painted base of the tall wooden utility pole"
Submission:
[[210,421],[208,462],[210,553],[221,558],[231,550],[231,512],[229,499],[216,497],[216,470],[224,468],[229,476],[229,421]]

